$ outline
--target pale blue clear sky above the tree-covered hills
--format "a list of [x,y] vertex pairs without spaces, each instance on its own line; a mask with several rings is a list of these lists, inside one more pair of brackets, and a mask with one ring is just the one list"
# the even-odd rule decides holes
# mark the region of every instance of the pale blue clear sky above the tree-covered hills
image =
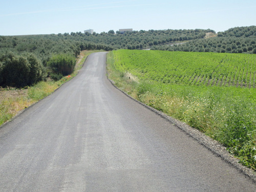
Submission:
[[255,0],[1,0],[0,35],[256,25]]

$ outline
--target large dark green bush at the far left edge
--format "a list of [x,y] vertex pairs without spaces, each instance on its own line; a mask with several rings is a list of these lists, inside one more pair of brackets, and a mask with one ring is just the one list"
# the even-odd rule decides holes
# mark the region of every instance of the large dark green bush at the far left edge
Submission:
[[45,69],[32,54],[6,53],[0,58],[0,86],[22,88],[45,78]]

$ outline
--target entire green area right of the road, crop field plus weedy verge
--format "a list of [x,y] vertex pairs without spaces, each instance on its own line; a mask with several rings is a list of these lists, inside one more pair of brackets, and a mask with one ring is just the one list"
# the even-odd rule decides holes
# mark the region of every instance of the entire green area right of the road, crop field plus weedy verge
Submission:
[[256,169],[256,55],[117,50],[109,71],[136,99],[218,140]]

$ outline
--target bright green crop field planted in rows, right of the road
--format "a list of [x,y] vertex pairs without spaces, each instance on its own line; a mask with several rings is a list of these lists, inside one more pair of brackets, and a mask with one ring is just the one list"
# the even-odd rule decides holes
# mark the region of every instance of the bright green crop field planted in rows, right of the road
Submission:
[[140,79],[195,86],[255,88],[256,55],[229,53],[114,51],[116,67]]

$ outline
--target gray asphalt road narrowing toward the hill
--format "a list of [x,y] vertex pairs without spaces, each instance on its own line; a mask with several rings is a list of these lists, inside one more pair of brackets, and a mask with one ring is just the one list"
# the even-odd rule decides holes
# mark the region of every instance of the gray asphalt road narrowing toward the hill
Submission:
[[256,191],[106,79],[106,53],[0,128],[0,191]]

